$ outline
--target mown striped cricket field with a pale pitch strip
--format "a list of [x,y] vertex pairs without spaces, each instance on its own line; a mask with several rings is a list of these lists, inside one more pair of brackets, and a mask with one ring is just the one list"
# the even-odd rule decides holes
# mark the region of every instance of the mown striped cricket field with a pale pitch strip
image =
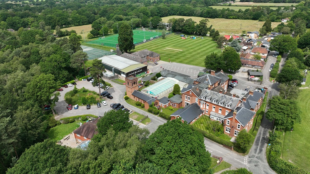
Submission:
[[[155,39],[138,45],[133,51],[148,49],[160,54],[163,61],[185,63],[189,65],[204,66],[204,59],[212,52],[221,53],[215,41],[210,37],[197,37],[197,39],[182,39],[180,35],[171,34],[166,39]],[[194,59],[193,59],[194,57]]]

